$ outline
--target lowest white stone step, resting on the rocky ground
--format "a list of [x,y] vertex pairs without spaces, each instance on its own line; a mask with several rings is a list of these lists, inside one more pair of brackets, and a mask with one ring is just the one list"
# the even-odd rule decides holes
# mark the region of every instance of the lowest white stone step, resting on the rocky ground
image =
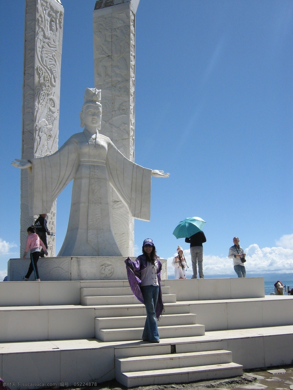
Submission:
[[179,367],[150,371],[121,372],[116,380],[126,387],[146,386],[161,383],[188,383],[199,380],[241,376],[243,366],[236,363]]

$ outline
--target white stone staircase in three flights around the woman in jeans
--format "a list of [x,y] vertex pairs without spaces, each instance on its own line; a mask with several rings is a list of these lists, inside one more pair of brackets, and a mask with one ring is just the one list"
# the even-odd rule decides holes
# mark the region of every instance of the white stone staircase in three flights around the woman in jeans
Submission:
[[[145,324],[145,307],[132,294],[126,281],[83,282],[80,302],[97,305],[96,339],[104,342],[140,340]],[[165,311],[158,322],[160,339],[204,336],[204,325],[197,324],[196,314],[189,305],[176,302],[169,286],[162,286]],[[115,350],[116,351],[116,350]],[[160,383],[191,382],[201,379],[225,378],[243,373],[243,366],[232,362],[226,350],[181,351],[176,345],[166,353],[158,345],[142,343],[138,348],[120,348],[115,353],[115,376],[126,387]],[[143,352],[144,351],[144,352]],[[117,356],[118,355],[118,356]]]

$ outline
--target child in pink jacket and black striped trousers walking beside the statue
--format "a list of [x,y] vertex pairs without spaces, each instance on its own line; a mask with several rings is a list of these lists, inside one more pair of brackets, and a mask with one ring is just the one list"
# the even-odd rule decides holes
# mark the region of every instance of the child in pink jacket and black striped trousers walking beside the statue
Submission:
[[40,257],[40,245],[42,246],[45,255],[48,255],[47,249],[45,244],[42,240],[39,239],[38,234],[36,234],[36,229],[34,226],[30,226],[27,228],[27,244],[25,245],[25,252],[23,254],[23,259],[25,259],[25,256],[27,255],[27,252],[30,250],[30,265],[29,270],[27,271],[27,275],[23,276],[23,280],[28,280],[30,277],[30,274],[34,270],[35,274],[35,280],[38,282],[40,281],[39,278],[39,272],[38,272],[38,266],[37,262]]

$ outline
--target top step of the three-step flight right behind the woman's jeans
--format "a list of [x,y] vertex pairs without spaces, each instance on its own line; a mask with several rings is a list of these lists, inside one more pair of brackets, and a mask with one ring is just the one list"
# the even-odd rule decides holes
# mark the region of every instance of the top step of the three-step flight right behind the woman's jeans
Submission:
[[[189,303],[166,303],[164,302],[165,314],[188,314]],[[145,305],[136,303],[132,305],[96,305],[98,317],[127,317],[127,316],[145,316]]]

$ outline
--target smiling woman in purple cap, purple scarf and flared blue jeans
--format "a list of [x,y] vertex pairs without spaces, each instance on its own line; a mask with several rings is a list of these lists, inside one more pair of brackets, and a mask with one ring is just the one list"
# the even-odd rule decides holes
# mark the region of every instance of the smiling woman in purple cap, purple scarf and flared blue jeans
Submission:
[[146,238],[143,241],[143,254],[135,261],[128,257],[125,264],[131,290],[136,298],[145,304],[147,311],[142,339],[159,342],[157,319],[164,309],[161,290],[162,264],[157,257],[153,240]]

